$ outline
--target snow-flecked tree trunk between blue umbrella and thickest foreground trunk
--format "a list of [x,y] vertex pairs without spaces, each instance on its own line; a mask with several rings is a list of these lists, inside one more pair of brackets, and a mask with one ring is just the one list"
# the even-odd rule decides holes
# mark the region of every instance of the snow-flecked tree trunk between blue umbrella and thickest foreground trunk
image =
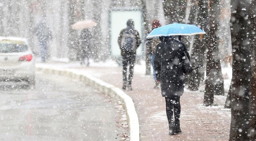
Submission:
[[204,105],[213,106],[214,95],[224,95],[224,80],[219,60],[218,36],[216,31],[219,23],[219,0],[210,1],[209,25],[210,31],[207,34],[208,52],[206,54],[206,86],[204,93]]

